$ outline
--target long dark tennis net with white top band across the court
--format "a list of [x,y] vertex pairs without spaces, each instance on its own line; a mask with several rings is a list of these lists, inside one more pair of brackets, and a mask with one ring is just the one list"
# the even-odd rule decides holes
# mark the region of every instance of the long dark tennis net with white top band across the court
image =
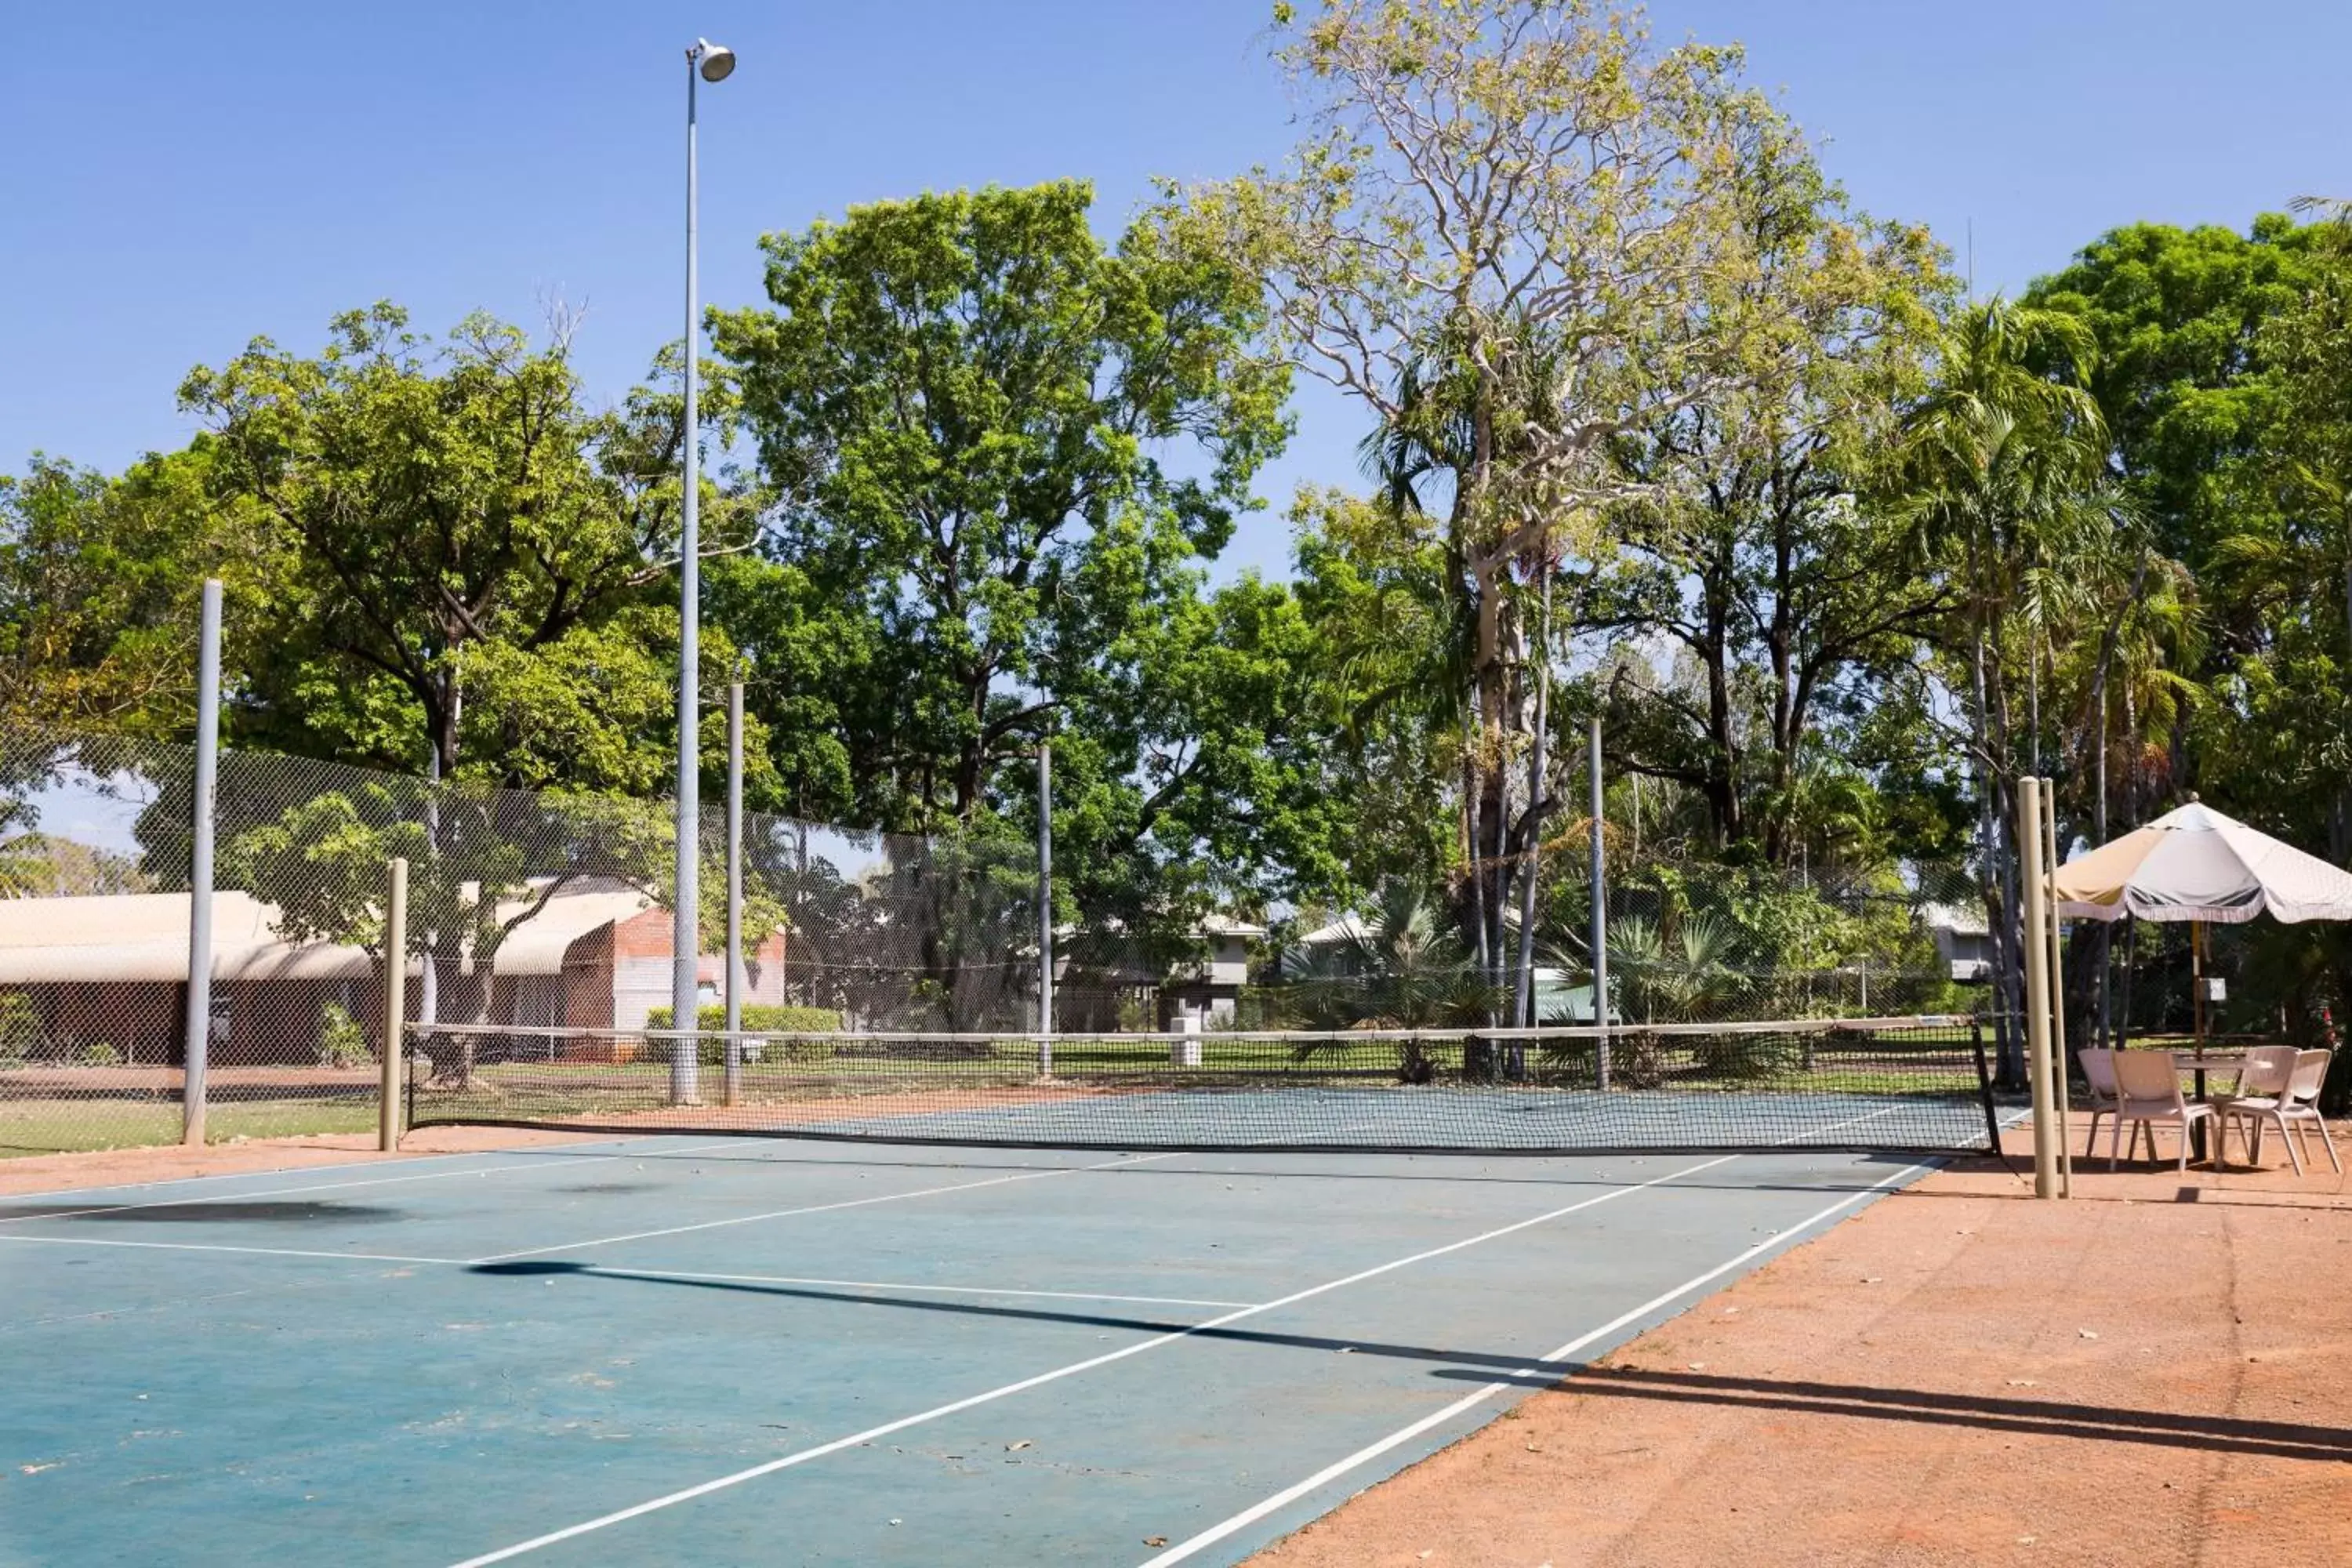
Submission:
[[[1070,1150],[1997,1147],[1971,1018],[1207,1034],[412,1025],[409,1124]],[[673,1056],[691,1053],[689,1070]]]

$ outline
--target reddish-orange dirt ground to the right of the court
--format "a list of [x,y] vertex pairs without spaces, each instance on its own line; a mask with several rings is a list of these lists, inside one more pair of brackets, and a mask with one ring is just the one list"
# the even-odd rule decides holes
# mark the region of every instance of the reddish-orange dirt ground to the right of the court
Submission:
[[2352,1563],[2352,1182],[2265,1161],[1929,1175],[1254,1563]]

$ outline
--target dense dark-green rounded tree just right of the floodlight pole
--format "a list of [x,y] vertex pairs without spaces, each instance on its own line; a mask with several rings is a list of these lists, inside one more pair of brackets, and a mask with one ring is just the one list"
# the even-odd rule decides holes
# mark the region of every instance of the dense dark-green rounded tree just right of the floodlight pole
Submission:
[[750,654],[807,670],[840,628],[802,717],[842,750],[795,755],[788,795],[971,823],[1249,505],[1284,435],[1284,376],[1247,350],[1256,289],[1105,249],[1089,207],[1070,181],[858,207],[769,235],[774,308],[717,317],[776,496],[769,569],[741,583]]

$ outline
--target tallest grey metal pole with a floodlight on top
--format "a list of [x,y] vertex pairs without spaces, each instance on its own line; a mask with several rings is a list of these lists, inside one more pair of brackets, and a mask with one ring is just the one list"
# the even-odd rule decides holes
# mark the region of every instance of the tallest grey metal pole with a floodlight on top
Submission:
[[699,985],[696,969],[701,954],[701,889],[696,872],[703,856],[703,802],[701,802],[701,724],[696,710],[696,675],[701,663],[701,411],[696,383],[701,378],[701,303],[694,277],[694,89],[696,82],[724,82],[734,73],[734,49],[724,49],[708,38],[696,38],[687,49],[687,409],[680,447],[684,447],[687,470],[680,494],[677,522],[677,886],[673,910],[677,922],[670,931],[675,969],[670,973],[670,1027],[680,1034],[670,1041],[670,1100],[691,1105],[694,1058],[699,1041]]

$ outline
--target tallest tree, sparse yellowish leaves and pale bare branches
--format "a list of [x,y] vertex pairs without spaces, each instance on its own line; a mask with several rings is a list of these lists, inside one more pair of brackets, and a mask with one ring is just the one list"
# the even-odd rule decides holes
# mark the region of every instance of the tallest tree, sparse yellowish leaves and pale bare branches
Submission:
[[[1788,132],[1738,49],[1653,49],[1585,0],[1277,7],[1308,139],[1279,172],[1171,188],[1176,254],[1261,277],[1277,353],[1371,409],[1383,468],[1444,520],[1470,715],[1465,914],[1501,966],[1522,839],[1526,602],[1635,482],[1613,442],[1738,386],[1755,256],[1738,172]],[[1402,487],[1399,487],[1402,489]]]

